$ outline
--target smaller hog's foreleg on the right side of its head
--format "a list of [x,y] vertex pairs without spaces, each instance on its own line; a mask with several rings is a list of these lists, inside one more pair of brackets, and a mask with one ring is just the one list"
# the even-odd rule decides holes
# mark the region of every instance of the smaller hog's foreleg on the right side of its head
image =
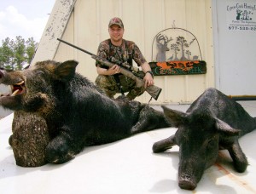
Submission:
[[232,157],[234,162],[234,167],[239,173],[243,173],[247,169],[247,157],[241,150],[238,140],[235,140],[234,144],[228,149],[230,152],[230,157]]

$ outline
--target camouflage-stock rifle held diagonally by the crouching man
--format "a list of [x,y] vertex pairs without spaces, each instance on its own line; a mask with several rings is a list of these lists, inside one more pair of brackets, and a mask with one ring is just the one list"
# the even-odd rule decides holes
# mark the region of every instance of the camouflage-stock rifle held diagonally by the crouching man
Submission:
[[[61,40],[60,38],[57,38],[57,40],[62,42],[62,43],[66,43],[67,45],[69,45],[73,48],[77,48],[77,49],[79,49],[80,51],[82,51],[86,54],[90,54],[92,59],[99,61],[100,63],[104,64],[105,66],[112,67],[112,66],[115,65],[115,64],[109,62],[108,60],[102,59],[101,57],[97,56],[96,54],[92,54],[89,51],[84,50],[83,48],[79,48],[79,47],[73,45],[72,43],[67,43],[66,41]],[[133,79],[136,82],[137,87],[143,87],[143,85],[144,85],[143,79],[141,77],[138,77],[134,73],[132,73],[132,71],[127,70],[123,66],[120,66],[120,73],[122,73],[126,77],[130,77],[131,79]],[[152,98],[154,98],[154,100],[158,99],[158,97],[160,95],[160,92],[162,91],[161,88],[158,88],[157,86],[154,86],[154,85],[153,86],[148,86],[145,90],[148,92],[148,94],[150,94],[152,96]]]

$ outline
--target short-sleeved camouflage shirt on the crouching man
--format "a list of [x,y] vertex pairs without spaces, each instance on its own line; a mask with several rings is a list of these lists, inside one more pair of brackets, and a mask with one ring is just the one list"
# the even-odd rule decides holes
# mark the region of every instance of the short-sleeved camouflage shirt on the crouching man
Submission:
[[[114,46],[110,39],[103,41],[98,47],[97,55],[102,57],[102,59],[107,59],[109,62],[118,65],[119,62],[128,62],[130,66],[132,66],[132,60],[137,63],[137,66],[141,66],[146,62],[143,54],[137,47],[137,44],[124,39],[123,43],[119,47]],[[108,69],[107,66],[101,65],[99,62],[96,62],[96,66]]]

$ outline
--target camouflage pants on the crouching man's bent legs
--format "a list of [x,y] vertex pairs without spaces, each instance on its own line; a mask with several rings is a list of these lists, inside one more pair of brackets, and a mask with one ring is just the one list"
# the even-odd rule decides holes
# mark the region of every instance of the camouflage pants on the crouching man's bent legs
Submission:
[[[136,83],[129,77],[124,75],[119,75],[120,84],[124,93],[128,92],[126,97],[130,100],[135,99],[137,96],[144,93],[145,88],[136,87]],[[114,94],[121,93],[118,84],[116,83],[113,76],[102,76],[96,77],[96,86],[102,88],[102,90],[108,95],[108,97],[113,98]]]

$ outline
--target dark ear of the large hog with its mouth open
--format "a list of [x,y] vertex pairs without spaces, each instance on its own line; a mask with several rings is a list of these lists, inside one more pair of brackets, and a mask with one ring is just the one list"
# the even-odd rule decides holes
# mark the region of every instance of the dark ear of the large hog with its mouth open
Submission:
[[78,64],[76,60],[67,60],[56,67],[55,75],[63,81],[68,81],[74,77]]

